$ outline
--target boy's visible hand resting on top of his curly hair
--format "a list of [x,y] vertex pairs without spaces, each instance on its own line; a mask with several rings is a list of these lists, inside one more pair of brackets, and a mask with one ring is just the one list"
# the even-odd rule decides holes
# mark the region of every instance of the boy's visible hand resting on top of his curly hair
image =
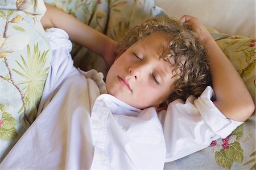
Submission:
[[183,24],[183,23],[191,24],[192,30],[199,35],[202,42],[204,42],[208,38],[211,38],[207,28],[205,28],[204,24],[201,23],[199,19],[190,15],[183,15],[180,18],[179,22],[180,24]]

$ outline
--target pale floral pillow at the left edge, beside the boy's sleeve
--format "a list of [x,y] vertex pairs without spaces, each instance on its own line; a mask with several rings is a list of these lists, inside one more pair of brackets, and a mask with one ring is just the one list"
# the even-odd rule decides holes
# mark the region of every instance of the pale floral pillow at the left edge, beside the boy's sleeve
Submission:
[[0,3],[0,162],[37,116],[51,51],[43,0]]

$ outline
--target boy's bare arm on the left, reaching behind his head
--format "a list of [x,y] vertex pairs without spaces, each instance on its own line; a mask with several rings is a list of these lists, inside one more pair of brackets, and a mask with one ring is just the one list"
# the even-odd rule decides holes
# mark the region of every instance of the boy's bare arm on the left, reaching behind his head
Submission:
[[72,15],[47,3],[45,5],[46,14],[41,19],[44,29],[51,27],[63,29],[68,33],[69,39],[101,55],[110,67],[114,61],[114,49],[117,42],[82,23]]

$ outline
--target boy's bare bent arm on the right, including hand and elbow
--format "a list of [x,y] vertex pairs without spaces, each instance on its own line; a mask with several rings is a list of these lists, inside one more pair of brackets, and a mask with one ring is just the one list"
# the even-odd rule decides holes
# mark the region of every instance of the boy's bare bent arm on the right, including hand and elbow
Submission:
[[214,105],[226,118],[246,121],[253,114],[255,105],[242,78],[198,19],[184,15],[180,18],[180,23],[185,22],[192,24],[193,31],[200,35],[209,51],[212,84],[216,95]]

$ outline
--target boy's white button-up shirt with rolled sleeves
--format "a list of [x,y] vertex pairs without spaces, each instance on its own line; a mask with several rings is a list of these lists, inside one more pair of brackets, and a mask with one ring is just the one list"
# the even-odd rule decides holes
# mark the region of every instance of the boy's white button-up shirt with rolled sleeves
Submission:
[[220,113],[210,87],[159,114],[131,107],[104,94],[101,73],[73,67],[65,31],[51,28],[47,37],[53,59],[41,113],[0,169],[163,169],[164,161],[199,151],[242,123]]

